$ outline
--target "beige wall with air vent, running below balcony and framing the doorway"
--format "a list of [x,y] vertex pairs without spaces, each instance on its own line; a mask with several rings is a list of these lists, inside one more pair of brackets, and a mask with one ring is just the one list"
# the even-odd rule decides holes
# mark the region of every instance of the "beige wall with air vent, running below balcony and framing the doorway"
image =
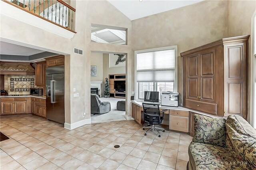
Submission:
[[[4,15],[1,15],[0,36],[3,40],[14,44],[20,42],[24,46],[70,54],[65,56],[65,122],[72,124],[90,118],[91,51],[124,52],[128,53],[129,57],[131,56],[129,45],[120,47],[113,44],[91,43],[91,23],[128,28],[128,33],[131,35],[132,22],[105,0],[72,0],[70,5],[76,8],[75,28],[77,32],[71,40]],[[131,44],[130,39],[131,37],[128,36],[129,44]],[[74,54],[74,47],[84,50],[84,55]],[[128,64],[131,67],[131,62]],[[131,78],[129,79],[131,81]],[[129,86],[131,87],[131,84]],[[73,88],[76,88],[75,93],[79,93],[79,97],[73,97]],[[128,102],[130,104],[130,101]],[[82,116],[83,112],[86,112],[85,117]],[[127,113],[130,115],[130,109]]]

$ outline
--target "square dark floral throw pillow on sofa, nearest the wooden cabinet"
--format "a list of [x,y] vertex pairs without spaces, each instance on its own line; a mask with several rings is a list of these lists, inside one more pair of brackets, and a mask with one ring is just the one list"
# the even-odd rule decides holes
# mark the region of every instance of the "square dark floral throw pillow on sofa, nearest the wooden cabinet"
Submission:
[[226,119],[194,114],[193,142],[226,146]]

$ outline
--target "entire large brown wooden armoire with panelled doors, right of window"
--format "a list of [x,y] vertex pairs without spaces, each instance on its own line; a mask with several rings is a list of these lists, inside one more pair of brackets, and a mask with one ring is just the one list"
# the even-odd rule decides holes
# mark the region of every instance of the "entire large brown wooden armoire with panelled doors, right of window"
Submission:
[[184,107],[247,119],[248,38],[223,38],[180,53]]

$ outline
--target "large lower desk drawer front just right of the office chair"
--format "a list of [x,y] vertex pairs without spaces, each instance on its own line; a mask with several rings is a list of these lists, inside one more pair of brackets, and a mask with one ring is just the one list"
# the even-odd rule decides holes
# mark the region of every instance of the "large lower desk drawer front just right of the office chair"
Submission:
[[177,130],[180,132],[188,132],[188,117],[172,116],[170,115],[170,130]]

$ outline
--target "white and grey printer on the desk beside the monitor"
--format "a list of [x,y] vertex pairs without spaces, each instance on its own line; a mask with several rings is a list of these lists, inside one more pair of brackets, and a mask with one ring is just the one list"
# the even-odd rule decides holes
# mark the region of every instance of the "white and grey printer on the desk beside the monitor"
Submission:
[[161,95],[162,106],[179,106],[179,93],[163,91]]

